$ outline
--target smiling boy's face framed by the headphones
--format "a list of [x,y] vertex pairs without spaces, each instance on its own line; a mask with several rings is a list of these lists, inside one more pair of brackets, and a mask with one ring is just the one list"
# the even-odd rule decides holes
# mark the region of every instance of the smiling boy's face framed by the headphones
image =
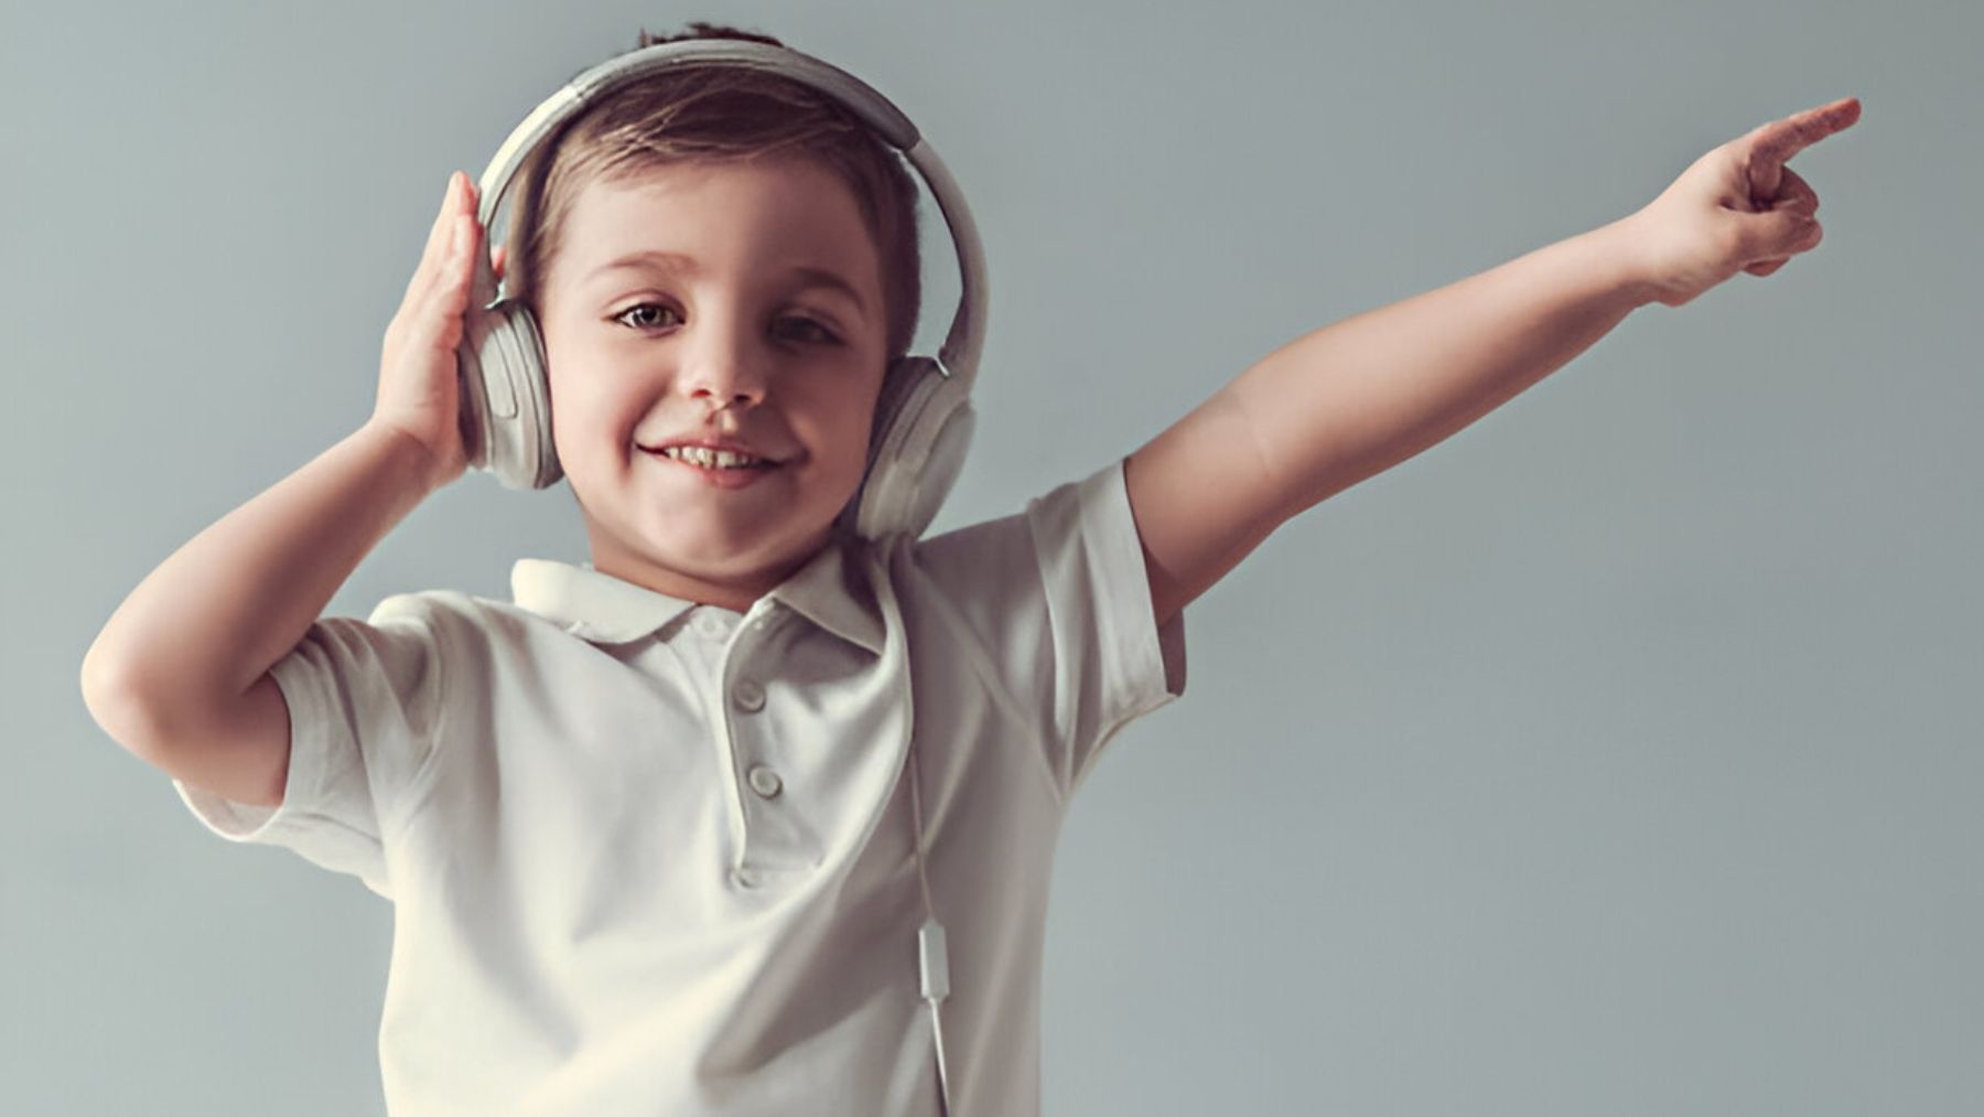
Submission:
[[[593,567],[742,613],[827,542],[885,357],[881,262],[831,171],[776,157],[587,183],[538,310]],[[679,442],[778,464],[708,470],[661,452]]]

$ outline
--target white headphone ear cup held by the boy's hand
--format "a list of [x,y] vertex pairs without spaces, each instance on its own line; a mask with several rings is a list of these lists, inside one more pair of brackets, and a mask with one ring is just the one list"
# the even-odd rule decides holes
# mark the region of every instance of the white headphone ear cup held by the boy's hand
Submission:
[[508,488],[556,484],[563,468],[552,442],[544,337],[530,308],[506,300],[464,315],[456,367],[468,464]]

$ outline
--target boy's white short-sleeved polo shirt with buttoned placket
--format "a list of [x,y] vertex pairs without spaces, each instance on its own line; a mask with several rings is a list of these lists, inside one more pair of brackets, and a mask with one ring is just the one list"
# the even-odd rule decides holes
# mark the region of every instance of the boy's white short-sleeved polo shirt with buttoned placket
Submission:
[[1121,460],[1024,514],[827,546],[742,615],[544,559],[512,589],[311,625],[272,671],[280,807],[175,782],[222,837],[393,901],[395,1117],[936,1113],[911,720],[952,1103],[1040,1113],[1067,798],[1184,690]]

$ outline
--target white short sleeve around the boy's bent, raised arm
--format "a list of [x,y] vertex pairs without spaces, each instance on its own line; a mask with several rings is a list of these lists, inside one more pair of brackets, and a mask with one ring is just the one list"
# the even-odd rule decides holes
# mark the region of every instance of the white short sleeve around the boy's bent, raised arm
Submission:
[[369,621],[321,617],[270,667],[290,706],[290,774],[276,807],[173,780],[228,841],[294,849],[393,899],[383,821],[425,774],[442,718],[442,647],[433,605],[385,599]]

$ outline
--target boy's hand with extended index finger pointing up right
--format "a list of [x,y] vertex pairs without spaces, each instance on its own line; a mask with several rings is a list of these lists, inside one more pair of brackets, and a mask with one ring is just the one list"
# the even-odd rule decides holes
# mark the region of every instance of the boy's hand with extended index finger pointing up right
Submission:
[[1621,224],[1639,278],[1682,306],[1736,272],[1768,276],[1819,244],[1819,196],[1784,163],[1859,119],[1859,99],[1770,121],[1694,161]]

